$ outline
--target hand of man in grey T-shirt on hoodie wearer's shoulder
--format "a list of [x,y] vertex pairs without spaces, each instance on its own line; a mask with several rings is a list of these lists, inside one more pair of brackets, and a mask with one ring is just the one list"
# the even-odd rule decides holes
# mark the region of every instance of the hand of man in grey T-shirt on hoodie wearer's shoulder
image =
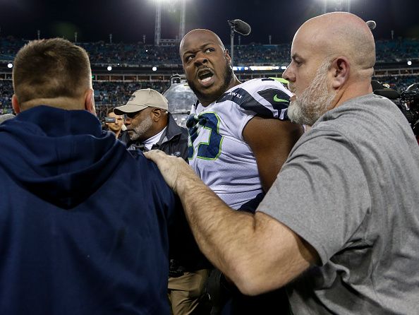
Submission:
[[181,182],[181,177],[188,176],[188,174],[195,177],[195,173],[182,157],[166,155],[161,150],[151,150],[145,152],[144,155],[157,164],[164,180],[175,193],[177,192],[176,184]]

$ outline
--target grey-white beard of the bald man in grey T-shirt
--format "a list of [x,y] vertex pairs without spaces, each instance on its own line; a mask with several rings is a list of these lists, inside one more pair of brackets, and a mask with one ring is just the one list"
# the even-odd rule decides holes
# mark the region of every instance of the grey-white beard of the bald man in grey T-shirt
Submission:
[[[332,108],[336,92],[329,88],[327,72],[330,62],[324,61],[315,74],[312,83],[303,90],[296,100],[290,102],[288,117],[296,124],[312,126],[322,114]],[[293,92],[293,83],[289,83],[289,90]]]

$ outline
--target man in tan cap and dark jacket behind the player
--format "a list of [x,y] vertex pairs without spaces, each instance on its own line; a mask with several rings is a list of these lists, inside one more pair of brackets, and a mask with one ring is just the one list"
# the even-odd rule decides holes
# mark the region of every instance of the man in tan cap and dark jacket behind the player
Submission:
[[[136,90],[114,113],[126,114],[129,150],[159,149],[188,161],[188,131],[176,124],[166,97],[156,90]],[[200,252],[181,207],[169,230],[169,251],[171,314],[209,314],[204,285],[210,264]]]

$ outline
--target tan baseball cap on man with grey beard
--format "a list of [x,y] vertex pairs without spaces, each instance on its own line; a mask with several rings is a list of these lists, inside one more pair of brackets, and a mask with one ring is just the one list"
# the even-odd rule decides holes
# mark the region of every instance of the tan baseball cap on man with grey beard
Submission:
[[144,88],[136,90],[133,95],[131,95],[126,105],[115,107],[114,113],[123,115],[126,113],[140,112],[140,110],[147,107],[169,109],[166,97],[157,92],[157,90]]

